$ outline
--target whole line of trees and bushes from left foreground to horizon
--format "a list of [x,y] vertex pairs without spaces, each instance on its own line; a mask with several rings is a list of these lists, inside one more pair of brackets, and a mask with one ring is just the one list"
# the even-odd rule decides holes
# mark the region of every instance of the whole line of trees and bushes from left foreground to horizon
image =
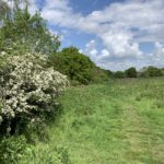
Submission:
[[164,74],[154,67],[113,72],[75,47],[60,49],[59,37],[39,12],[32,15],[26,1],[24,9],[19,8],[21,0],[13,2],[11,9],[0,0],[0,163],[17,163],[35,134],[47,139],[45,124],[61,113],[58,96],[70,83]]

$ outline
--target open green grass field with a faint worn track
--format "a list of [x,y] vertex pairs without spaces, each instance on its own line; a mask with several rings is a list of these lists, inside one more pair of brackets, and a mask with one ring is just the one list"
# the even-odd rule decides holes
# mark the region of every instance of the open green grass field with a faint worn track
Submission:
[[63,114],[36,150],[66,148],[73,164],[164,163],[163,78],[70,87],[60,102]]

